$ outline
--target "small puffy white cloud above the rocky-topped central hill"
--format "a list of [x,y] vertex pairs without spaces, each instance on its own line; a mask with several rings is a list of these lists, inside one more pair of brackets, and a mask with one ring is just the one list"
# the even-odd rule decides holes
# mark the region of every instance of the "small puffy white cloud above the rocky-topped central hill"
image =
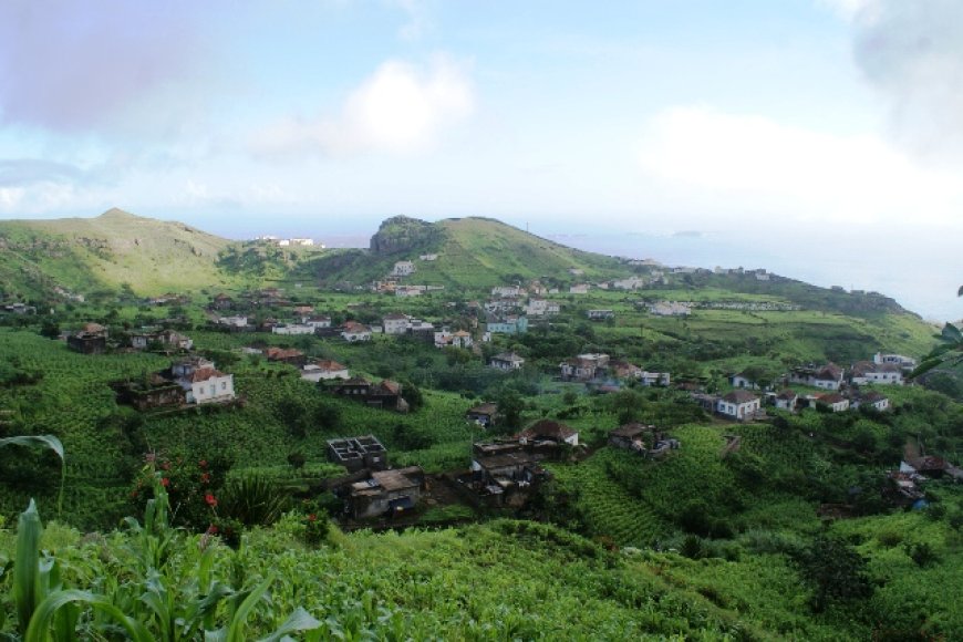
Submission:
[[339,116],[288,118],[260,132],[251,147],[266,157],[407,155],[431,147],[474,108],[470,79],[449,59],[436,56],[427,66],[390,60],[351,93]]

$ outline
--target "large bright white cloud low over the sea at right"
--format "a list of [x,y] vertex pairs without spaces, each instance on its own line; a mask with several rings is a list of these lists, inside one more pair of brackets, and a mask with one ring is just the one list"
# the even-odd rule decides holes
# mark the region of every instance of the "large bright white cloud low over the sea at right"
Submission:
[[702,207],[800,224],[956,224],[963,185],[872,135],[836,136],[756,115],[675,107],[650,123],[642,170]]

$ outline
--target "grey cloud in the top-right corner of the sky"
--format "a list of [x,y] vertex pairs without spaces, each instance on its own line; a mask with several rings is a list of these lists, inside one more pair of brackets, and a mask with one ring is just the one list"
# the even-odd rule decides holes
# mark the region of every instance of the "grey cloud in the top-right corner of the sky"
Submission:
[[888,101],[894,139],[917,157],[963,159],[963,2],[856,3],[853,56]]

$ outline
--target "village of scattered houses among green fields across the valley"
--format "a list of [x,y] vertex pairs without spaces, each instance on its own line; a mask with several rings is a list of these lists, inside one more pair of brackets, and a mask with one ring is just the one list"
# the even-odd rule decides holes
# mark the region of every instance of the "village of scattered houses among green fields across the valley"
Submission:
[[[886,298],[558,258],[525,236],[511,238],[550,269],[463,277],[448,252],[476,236],[425,234],[435,245],[373,239],[392,251],[358,265],[315,248],[283,278],[203,290],[7,296],[6,434],[62,437],[80,489],[68,515],[85,528],[139,506],[143,470],[168,479],[179,526],[225,540],[253,532],[227,517],[241,479],[263,480],[306,532],[514,519],[673,560],[772,555],[754,538],[780,527],[758,511],[785,506],[799,539],[901,510],[951,528],[929,507],[955,515],[961,415],[915,375],[933,329]],[[0,493],[12,512],[34,477],[2,455],[20,479]],[[796,578],[788,558],[769,563]]]

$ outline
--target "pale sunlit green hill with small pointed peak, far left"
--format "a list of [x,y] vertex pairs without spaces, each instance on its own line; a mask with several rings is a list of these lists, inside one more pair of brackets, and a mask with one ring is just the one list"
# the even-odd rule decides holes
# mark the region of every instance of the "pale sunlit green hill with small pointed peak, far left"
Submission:
[[176,221],[111,209],[95,218],[0,222],[0,279],[8,294],[54,288],[86,293],[127,283],[139,294],[225,281],[215,268],[230,241]]

